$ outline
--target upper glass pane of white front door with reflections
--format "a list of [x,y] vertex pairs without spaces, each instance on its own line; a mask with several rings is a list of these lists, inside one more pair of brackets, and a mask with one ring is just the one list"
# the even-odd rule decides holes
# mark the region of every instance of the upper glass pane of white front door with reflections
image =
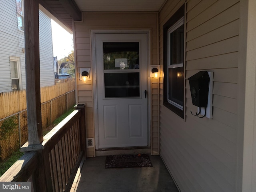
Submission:
[[104,70],[139,69],[139,42],[104,42]]

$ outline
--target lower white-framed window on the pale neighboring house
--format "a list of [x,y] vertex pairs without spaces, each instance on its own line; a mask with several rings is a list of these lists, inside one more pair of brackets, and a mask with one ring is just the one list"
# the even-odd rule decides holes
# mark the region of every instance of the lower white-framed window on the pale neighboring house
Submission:
[[18,91],[22,89],[21,78],[20,78],[20,58],[10,56],[10,72],[12,91]]

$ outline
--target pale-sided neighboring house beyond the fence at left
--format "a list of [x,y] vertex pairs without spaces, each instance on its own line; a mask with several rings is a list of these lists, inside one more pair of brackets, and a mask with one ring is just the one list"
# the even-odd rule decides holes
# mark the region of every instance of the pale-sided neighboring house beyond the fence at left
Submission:
[[[26,89],[23,14],[23,0],[0,1],[0,92]],[[50,86],[54,85],[51,20],[42,11],[39,25],[40,84]]]

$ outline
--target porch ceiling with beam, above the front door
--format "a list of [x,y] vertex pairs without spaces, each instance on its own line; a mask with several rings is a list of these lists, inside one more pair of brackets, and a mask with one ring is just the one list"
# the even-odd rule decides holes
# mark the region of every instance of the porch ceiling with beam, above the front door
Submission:
[[159,11],[166,0],[39,0],[54,17],[72,30],[82,12]]

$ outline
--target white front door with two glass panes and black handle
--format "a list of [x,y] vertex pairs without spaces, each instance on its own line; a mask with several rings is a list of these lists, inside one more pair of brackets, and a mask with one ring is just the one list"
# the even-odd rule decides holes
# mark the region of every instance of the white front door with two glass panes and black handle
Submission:
[[147,34],[95,34],[98,148],[148,146]]

